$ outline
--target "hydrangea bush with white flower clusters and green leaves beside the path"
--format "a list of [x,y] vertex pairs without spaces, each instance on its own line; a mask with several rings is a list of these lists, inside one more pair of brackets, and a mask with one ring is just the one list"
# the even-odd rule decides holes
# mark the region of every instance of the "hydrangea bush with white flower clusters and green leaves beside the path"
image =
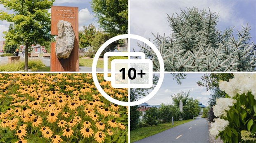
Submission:
[[218,118],[210,134],[224,143],[256,142],[256,74],[234,74],[228,82],[220,81],[219,87],[227,94],[213,106]]

